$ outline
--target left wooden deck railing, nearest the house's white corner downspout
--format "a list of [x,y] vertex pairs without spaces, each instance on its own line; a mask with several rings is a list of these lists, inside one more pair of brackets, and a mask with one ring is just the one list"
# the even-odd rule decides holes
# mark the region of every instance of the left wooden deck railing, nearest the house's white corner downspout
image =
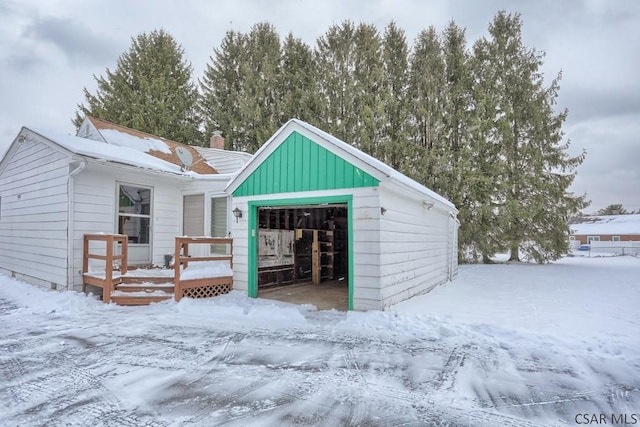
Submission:
[[[93,253],[91,242],[105,242],[103,253]],[[85,234],[84,249],[82,255],[82,292],[87,285],[102,288],[102,301],[111,302],[111,294],[115,289],[113,277],[114,261],[120,261],[120,276],[127,274],[127,255],[129,239],[125,234]],[[114,244],[120,245],[120,254],[114,253]],[[98,259],[105,262],[104,277],[102,275],[89,274],[89,260]]]

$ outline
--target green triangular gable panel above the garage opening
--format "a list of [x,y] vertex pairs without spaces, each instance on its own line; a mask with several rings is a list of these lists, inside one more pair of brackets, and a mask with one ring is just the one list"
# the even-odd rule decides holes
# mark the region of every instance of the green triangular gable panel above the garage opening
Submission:
[[234,197],[377,187],[380,181],[292,132],[233,192]]

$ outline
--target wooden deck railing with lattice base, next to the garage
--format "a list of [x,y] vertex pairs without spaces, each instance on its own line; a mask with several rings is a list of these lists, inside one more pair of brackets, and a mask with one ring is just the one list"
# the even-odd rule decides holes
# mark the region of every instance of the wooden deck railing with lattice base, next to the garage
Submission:
[[[225,255],[191,256],[190,245],[224,245]],[[229,270],[233,269],[233,239],[224,237],[176,237],[174,258],[175,299],[183,297],[212,297],[227,293],[233,287],[233,275],[198,277],[181,279],[180,276],[189,264],[202,261],[229,262]],[[181,267],[182,266],[182,271]]]

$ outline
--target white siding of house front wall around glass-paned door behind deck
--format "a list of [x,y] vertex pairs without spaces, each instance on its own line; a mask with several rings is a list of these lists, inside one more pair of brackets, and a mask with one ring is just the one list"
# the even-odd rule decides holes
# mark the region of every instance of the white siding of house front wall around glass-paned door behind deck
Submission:
[[151,255],[154,265],[164,265],[164,255],[173,253],[175,237],[181,235],[181,183],[175,177],[133,171],[116,166],[89,164],[74,178],[73,194],[73,287],[82,286],[83,236],[115,233],[116,185],[127,183],[153,188],[151,207]]

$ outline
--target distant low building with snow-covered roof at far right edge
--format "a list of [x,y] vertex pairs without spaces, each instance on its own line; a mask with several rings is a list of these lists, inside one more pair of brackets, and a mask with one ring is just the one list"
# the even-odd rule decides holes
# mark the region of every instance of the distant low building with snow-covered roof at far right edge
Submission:
[[[640,241],[640,214],[582,217],[569,224],[569,241],[574,245],[591,242]],[[579,243],[578,243],[579,242]]]

